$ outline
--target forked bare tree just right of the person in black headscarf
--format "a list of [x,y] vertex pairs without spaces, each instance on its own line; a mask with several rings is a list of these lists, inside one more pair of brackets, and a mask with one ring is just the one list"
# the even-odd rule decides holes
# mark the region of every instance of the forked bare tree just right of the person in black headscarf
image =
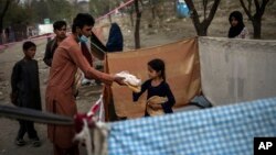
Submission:
[[254,38],[261,38],[262,32],[262,16],[265,12],[265,7],[269,2],[269,0],[254,0],[255,3],[255,14],[252,13],[252,0],[247,0],[248,7],[246,8],[244,0],[240,0],[245,13],[247,14],[248,19],[252,21],[253,29],[254,29]]

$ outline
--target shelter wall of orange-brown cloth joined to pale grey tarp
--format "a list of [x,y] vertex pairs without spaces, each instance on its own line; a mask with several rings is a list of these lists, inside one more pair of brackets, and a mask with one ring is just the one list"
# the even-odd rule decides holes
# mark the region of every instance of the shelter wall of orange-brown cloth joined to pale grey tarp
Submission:
[[[276,96],[276,42],[223,37],[192,37],[150,48],[106,55],[109,74],[128,70],[147,79],[147,62],[166,62],[167,81],[176,97],[174,109],[204,95],[213,106]],[[201,91],[202,90],[202,91]],[[144,115],[146,93],[132,102],[131,90],[114,84],[104,90],[106,118]]]

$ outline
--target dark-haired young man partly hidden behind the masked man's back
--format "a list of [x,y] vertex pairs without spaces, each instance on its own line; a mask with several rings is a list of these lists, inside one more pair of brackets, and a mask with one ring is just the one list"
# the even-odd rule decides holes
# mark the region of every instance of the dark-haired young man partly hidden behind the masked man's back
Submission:
[[67,24],[64,21],[56,21],[53,24],[55,37],[46,44],[46,49],[43,58],[44,63],[49,67],[52,66],[52,60],[56,47],[66,37],[66,26]]

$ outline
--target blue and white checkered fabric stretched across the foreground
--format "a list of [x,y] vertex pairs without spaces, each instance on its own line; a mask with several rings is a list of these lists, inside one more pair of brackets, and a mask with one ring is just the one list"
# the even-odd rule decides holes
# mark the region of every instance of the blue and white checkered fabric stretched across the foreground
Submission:
[[276,136],[276,98],[112,123],[109,155],[253,155]]

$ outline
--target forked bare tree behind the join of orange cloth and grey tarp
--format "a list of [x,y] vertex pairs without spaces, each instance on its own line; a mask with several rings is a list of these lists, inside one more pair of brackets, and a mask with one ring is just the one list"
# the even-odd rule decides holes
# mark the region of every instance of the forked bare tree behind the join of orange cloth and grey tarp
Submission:
[[213,4],[211,7],[211,10],[209,12],[209,15],[206,16],[206,9],[208,9],[208,4],[210,2],[210,0],[203,0],[203,21],[200,21],[200,15],[194,7],[193,0],[185,0],[185,3],[189,8],[189,10],[191,11],[191,19],[193,22],[193,25],[197,30],[197,33],[199,36],[206,36],[208,35],[208,27],[211,24],[214,14],[217,10],[217,7],[221,2],[221,0],[213,0]]

